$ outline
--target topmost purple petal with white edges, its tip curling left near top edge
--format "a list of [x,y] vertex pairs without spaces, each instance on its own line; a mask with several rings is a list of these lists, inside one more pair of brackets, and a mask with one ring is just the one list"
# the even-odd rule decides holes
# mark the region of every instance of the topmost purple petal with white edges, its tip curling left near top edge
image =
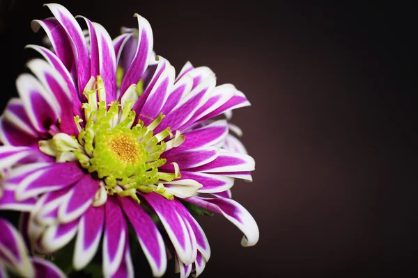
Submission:
[[45,4],[45,6],[51,10],[59,23],[61,23],[71,42],[72,51],[75,54],[75,65],[77,67],[78,90],[80,97],[84,99],[82,92],[91,75],[90,58],[82,28],[80,28],[75,18],[65,7],[56,3]]

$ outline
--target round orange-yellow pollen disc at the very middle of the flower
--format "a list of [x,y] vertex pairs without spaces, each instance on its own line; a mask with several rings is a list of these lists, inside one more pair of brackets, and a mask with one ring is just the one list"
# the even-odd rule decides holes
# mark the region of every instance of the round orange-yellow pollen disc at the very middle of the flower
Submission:
[[109,150],[114,152],[116,157],[124,163],[136,163],[139,160],[139,149],[137,142],[130,136],[121,135],[111,140]]

